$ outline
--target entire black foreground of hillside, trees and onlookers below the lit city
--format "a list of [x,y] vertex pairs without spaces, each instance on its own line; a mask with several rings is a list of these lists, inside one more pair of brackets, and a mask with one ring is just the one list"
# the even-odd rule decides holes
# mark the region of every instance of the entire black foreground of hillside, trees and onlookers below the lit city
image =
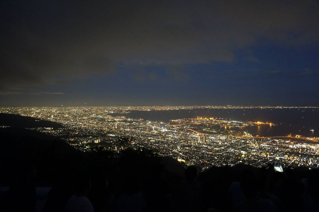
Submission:
[[[51,124],[51,123],[48,123]],[[319,172],[272,165],[199,172],[147,150],[79,152],[0,128],[0,211],[318,211]]]

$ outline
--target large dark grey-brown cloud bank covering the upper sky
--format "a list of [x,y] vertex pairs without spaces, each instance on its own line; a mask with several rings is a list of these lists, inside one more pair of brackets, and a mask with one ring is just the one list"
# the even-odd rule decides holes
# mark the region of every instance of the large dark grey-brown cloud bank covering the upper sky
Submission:
[[[180,79],[187,76],[174,67],[233,62],[236,51],[259,38],[318,45],[318,4],[3,1],[0,89],[19,93],[30,86],[108,74],[119,63],[167,67]],[[246,59],[258,61],[252,53]],[[158,76],[151,72],[147,77]]]

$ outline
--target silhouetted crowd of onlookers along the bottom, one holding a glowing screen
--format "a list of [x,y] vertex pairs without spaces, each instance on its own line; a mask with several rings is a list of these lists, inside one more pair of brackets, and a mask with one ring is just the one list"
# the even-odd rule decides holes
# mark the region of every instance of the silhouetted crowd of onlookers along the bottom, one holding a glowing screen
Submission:
[[[273,166],[246,168],[240,171],[237,180],[226,182],[223,179],[233,177],[228,176],[229,169],[221,168],[219,172],[212,168],[198,175],[196,167],[188,166],[182,180],[168,178],[165,166],[160,163],[152,165],[144,177],[134,172],[133,167],[131,173],[126,172],[117,181],[120,184],[112,186],[113,189],[107,173],[60,176],[49,191],[42,211],[319,211],[319,172],[316,169],[310,170],[307,178],[298,179],[290,168],[283,172],[276,172]],[[34,202],[31,181],[20,181],[11,187],[6,210],[21,211],[22,207],[25,209],[22,211],[32,211]]]

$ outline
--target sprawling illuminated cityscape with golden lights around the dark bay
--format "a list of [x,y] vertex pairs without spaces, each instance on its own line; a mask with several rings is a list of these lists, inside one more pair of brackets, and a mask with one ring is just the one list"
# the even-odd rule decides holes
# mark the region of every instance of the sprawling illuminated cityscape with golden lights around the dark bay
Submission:
[[[226,106],[226,108],[232,107]],[[266,166],[269,163],[281,164],[285,167],[316,168],[319,165],[319,138],[317,137],[301,135],[262,137],[233,130],[247,126],[272,127],[276,126],[276,123],[236,121],[216,117],[171,119],[164,123],[128,117],[131,111],[138,110],[194,110],[197,108],[224,107],[21,107],[1,108],[0,112],[60,123],[64,128],[34,128],[33,130],[63,138],[81,151],[91,151],[98,146],[105,150],[119,152],[129,145],[137,150],[150,149],[160,156],[169,156],[185,165],[196,165],[202,169],[210,166],[233,166],[240,163],[257,167]],[[122,143],[123,138],[128,141],[127,145]]]

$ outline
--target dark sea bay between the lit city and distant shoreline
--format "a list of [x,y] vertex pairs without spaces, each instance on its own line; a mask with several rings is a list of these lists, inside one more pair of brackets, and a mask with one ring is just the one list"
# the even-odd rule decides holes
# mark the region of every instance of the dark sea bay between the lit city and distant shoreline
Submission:
[[[274,125],[231,128],[233,131],[245,131],[253,136],[270,137],[288,134],[305,137],[319,137],[319,108],[276,108],[276,109],[193,109],[193,110],[151,110],[118,113],[134,119],[169,122],[172,119],[192,117],[214,117],[236,121],[271,122]],[[225,130],[223,127],[215,129]],[[226,129],[228,130],[228,129]],[[312,131],[313,130],[313,131]]]

